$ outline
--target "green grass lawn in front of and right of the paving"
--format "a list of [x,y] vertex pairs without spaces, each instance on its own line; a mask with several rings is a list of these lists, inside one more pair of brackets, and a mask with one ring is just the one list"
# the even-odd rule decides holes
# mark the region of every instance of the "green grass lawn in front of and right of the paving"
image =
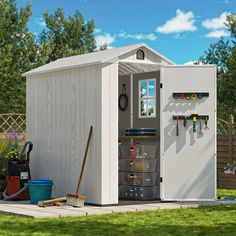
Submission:
[[[219,190],[235,196],[236,190]],[[236,205],[33,220],[0,215],[0,235],[236,235]]]

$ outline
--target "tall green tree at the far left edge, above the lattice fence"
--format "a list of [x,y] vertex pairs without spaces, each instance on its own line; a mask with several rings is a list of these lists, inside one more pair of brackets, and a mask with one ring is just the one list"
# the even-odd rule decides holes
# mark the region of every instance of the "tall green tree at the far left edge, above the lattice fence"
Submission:
[[25,112],[25,79],[33,68],[37,47],[27,24],[31,6],[17,9],[16,0],[0,1],[0,113]]

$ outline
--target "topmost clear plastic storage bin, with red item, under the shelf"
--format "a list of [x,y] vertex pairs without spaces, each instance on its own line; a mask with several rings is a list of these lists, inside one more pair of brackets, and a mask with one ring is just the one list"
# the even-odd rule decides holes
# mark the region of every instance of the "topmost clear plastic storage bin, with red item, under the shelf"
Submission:
[[120,158],[155,158],[156,145],[137,145],[135,148],[128,145],[120,145]]

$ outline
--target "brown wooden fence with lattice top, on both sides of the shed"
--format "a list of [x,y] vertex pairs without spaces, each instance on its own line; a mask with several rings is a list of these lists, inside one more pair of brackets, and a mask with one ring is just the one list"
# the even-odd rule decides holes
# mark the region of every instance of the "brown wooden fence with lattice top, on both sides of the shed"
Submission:
[[[217,183],[220,188],[235,188],[236,175],[226,175],[224,166],[236,161],[236,130],[234,119],[217,121]],[[26,138],[26,115],[19,113],[0,114],[0,140],[11,136],[22,142]]]

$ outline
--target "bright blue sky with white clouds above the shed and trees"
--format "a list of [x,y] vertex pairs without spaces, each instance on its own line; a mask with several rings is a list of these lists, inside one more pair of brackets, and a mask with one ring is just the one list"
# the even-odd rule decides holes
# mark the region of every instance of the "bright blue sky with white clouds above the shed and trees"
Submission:
[[[27,0],[18,0],[19,6]],[[236,13],[236,0],[31,0],[29,28],[39,33],[42,14],[57,7],[81,11],[96,21],[97,44],[111,47],[144,42],[178,64],[195,61],[221,35],[225,16]]]

